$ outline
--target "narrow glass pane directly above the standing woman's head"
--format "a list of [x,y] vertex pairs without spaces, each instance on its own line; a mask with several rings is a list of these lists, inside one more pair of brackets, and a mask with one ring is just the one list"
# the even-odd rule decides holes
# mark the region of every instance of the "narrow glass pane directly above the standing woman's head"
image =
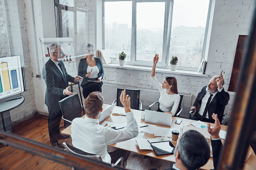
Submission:
[[86,47],[88,44],[88,16],[87,13],[76,12],[76,48],[78,54],[86,53]]

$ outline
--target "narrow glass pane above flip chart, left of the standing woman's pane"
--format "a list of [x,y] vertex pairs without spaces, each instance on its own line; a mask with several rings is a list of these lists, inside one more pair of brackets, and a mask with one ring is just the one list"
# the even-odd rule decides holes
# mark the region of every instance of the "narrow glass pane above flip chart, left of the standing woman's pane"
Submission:
[[74,38],[74,13],[61,10],[62,16],[62,37]]

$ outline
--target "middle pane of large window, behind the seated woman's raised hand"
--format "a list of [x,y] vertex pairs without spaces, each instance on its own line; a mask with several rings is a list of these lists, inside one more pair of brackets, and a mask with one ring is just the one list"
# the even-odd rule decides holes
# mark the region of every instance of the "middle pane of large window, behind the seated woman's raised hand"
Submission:
[[164,2],[136,3],[136,60],[153,61],[156,53],[162,58]]

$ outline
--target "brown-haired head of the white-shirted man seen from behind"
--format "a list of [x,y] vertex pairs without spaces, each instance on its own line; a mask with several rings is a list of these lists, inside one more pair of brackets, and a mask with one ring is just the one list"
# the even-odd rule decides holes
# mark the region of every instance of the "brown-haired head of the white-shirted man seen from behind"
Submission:
[[89,94],[84,100],[84,109],[86,110],[87,117],[96,118],[103,106],[103,94],[95,91]]

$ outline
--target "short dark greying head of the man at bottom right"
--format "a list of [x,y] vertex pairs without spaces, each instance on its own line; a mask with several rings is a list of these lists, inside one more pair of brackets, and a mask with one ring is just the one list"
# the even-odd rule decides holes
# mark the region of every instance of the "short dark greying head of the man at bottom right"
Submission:
[[179,150],[182,164],[188,170],[195,170],[207,163],[210,158],[210,146],[206,138],[196,130],[183,133],[176,148]]

